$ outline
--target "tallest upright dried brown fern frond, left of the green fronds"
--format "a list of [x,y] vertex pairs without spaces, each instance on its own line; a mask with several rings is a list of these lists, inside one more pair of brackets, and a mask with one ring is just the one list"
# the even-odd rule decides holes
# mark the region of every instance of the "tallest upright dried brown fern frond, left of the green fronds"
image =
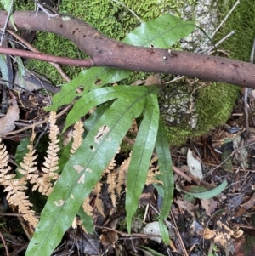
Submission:
[[56,122],[56,112],[51,111],[48,117],[49,122],[49,143],[47,156],[45,157],[45,162],[43,163],[42,171],[45,173],[40,179],[31,179],[31,183],[35,183],[33,190],[38,188],[38,191],[42,192],[42,195],[49,195],[53,190],[52,180],[59,179],[59,174],[55,171],[58,170],[59,162],[59,139],[57,135],[59,134],[59,128],[55,124]]

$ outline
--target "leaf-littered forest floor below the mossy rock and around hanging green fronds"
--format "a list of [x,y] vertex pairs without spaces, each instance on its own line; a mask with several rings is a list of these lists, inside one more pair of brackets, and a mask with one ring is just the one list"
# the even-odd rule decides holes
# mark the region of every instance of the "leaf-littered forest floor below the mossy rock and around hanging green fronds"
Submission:
[[[170,246],[161,242],[157,217],[162,198],[155,187],[144,187],[139,210],[133,219],[132,234],[129,235],[125,221],[125,193],[116,196],[114,208],[105,177],[101,181],[102,208],[96,209],[96,196],[92,194],[90,197],[95,234],[88,235],[79,226],[71,228],[54,255],[253,255],[255,119],[252,113],[255,101],[252,91],[249,91],[247,100],[245,110],[244,94],[240,95],[224,126],[171,149],[175,189],[167,219]],[[13,135],[6,143],[10,154],[15,151],[15,140],[19,143],[22,136]],[[122,151],[116,155],[117,166],[127,159],[127,155],[128,152]],[[210,191],[224,180],[228,183],[226,189],[209,199],[184,193]],[[20,219],[15,208],[8,206],[3,187],[0,206],[1,255],[25,255],[31,227]]]

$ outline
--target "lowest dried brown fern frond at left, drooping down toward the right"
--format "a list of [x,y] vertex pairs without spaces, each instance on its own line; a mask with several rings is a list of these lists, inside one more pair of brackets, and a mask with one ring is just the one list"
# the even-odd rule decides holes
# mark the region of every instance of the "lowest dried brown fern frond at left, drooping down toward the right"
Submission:
[[8,195],[6,196],[8,203],[17,206],[19,212],[24,213],[23,218],[36,228],[38,219],[34,215],[35,212],[31,210],[32,204],[24,192],[26,189],[26,176],[24,176],[21,179],[8,180],[8,186],[4,191],[8,191]]

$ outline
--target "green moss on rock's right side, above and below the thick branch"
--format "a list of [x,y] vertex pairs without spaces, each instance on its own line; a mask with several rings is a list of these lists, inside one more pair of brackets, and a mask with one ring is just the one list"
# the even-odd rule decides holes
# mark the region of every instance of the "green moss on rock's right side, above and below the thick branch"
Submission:
[[[235,4],[235,0],[218,1],[218,20],[221,21],[229,13]],[[228,50],[231,59],[249,61],[255,31],[255,9],[254,3],[249,0],[242,0],[235,11],[230,14],[224,26],[218,31],[215,42],[235,31],[219,48]],[[180,145],[185,139],[189,139],[207,131],[213,126],[226,122],[235,105],[235,100],[239,95],[239,88],[229,85],[207,82],[206,87],[202,87],[195,96],[195,115],[197,125],[191,128],[187,122],[169,125],[166,122],[169,141],[172,145]],[[165,117],[165,114],[163,114]]]

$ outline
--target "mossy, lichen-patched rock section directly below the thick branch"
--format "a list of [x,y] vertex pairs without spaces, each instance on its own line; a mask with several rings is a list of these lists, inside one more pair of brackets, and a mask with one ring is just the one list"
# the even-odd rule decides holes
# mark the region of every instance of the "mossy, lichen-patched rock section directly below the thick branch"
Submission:
[[238,92],[238,87],[218,82],[196,82],[190,86],[181,81],[167,90],[164,88],[160,96],[161,117],[169,143],[181,145],[186,139],[205,134],[213,126],[226,122]]

